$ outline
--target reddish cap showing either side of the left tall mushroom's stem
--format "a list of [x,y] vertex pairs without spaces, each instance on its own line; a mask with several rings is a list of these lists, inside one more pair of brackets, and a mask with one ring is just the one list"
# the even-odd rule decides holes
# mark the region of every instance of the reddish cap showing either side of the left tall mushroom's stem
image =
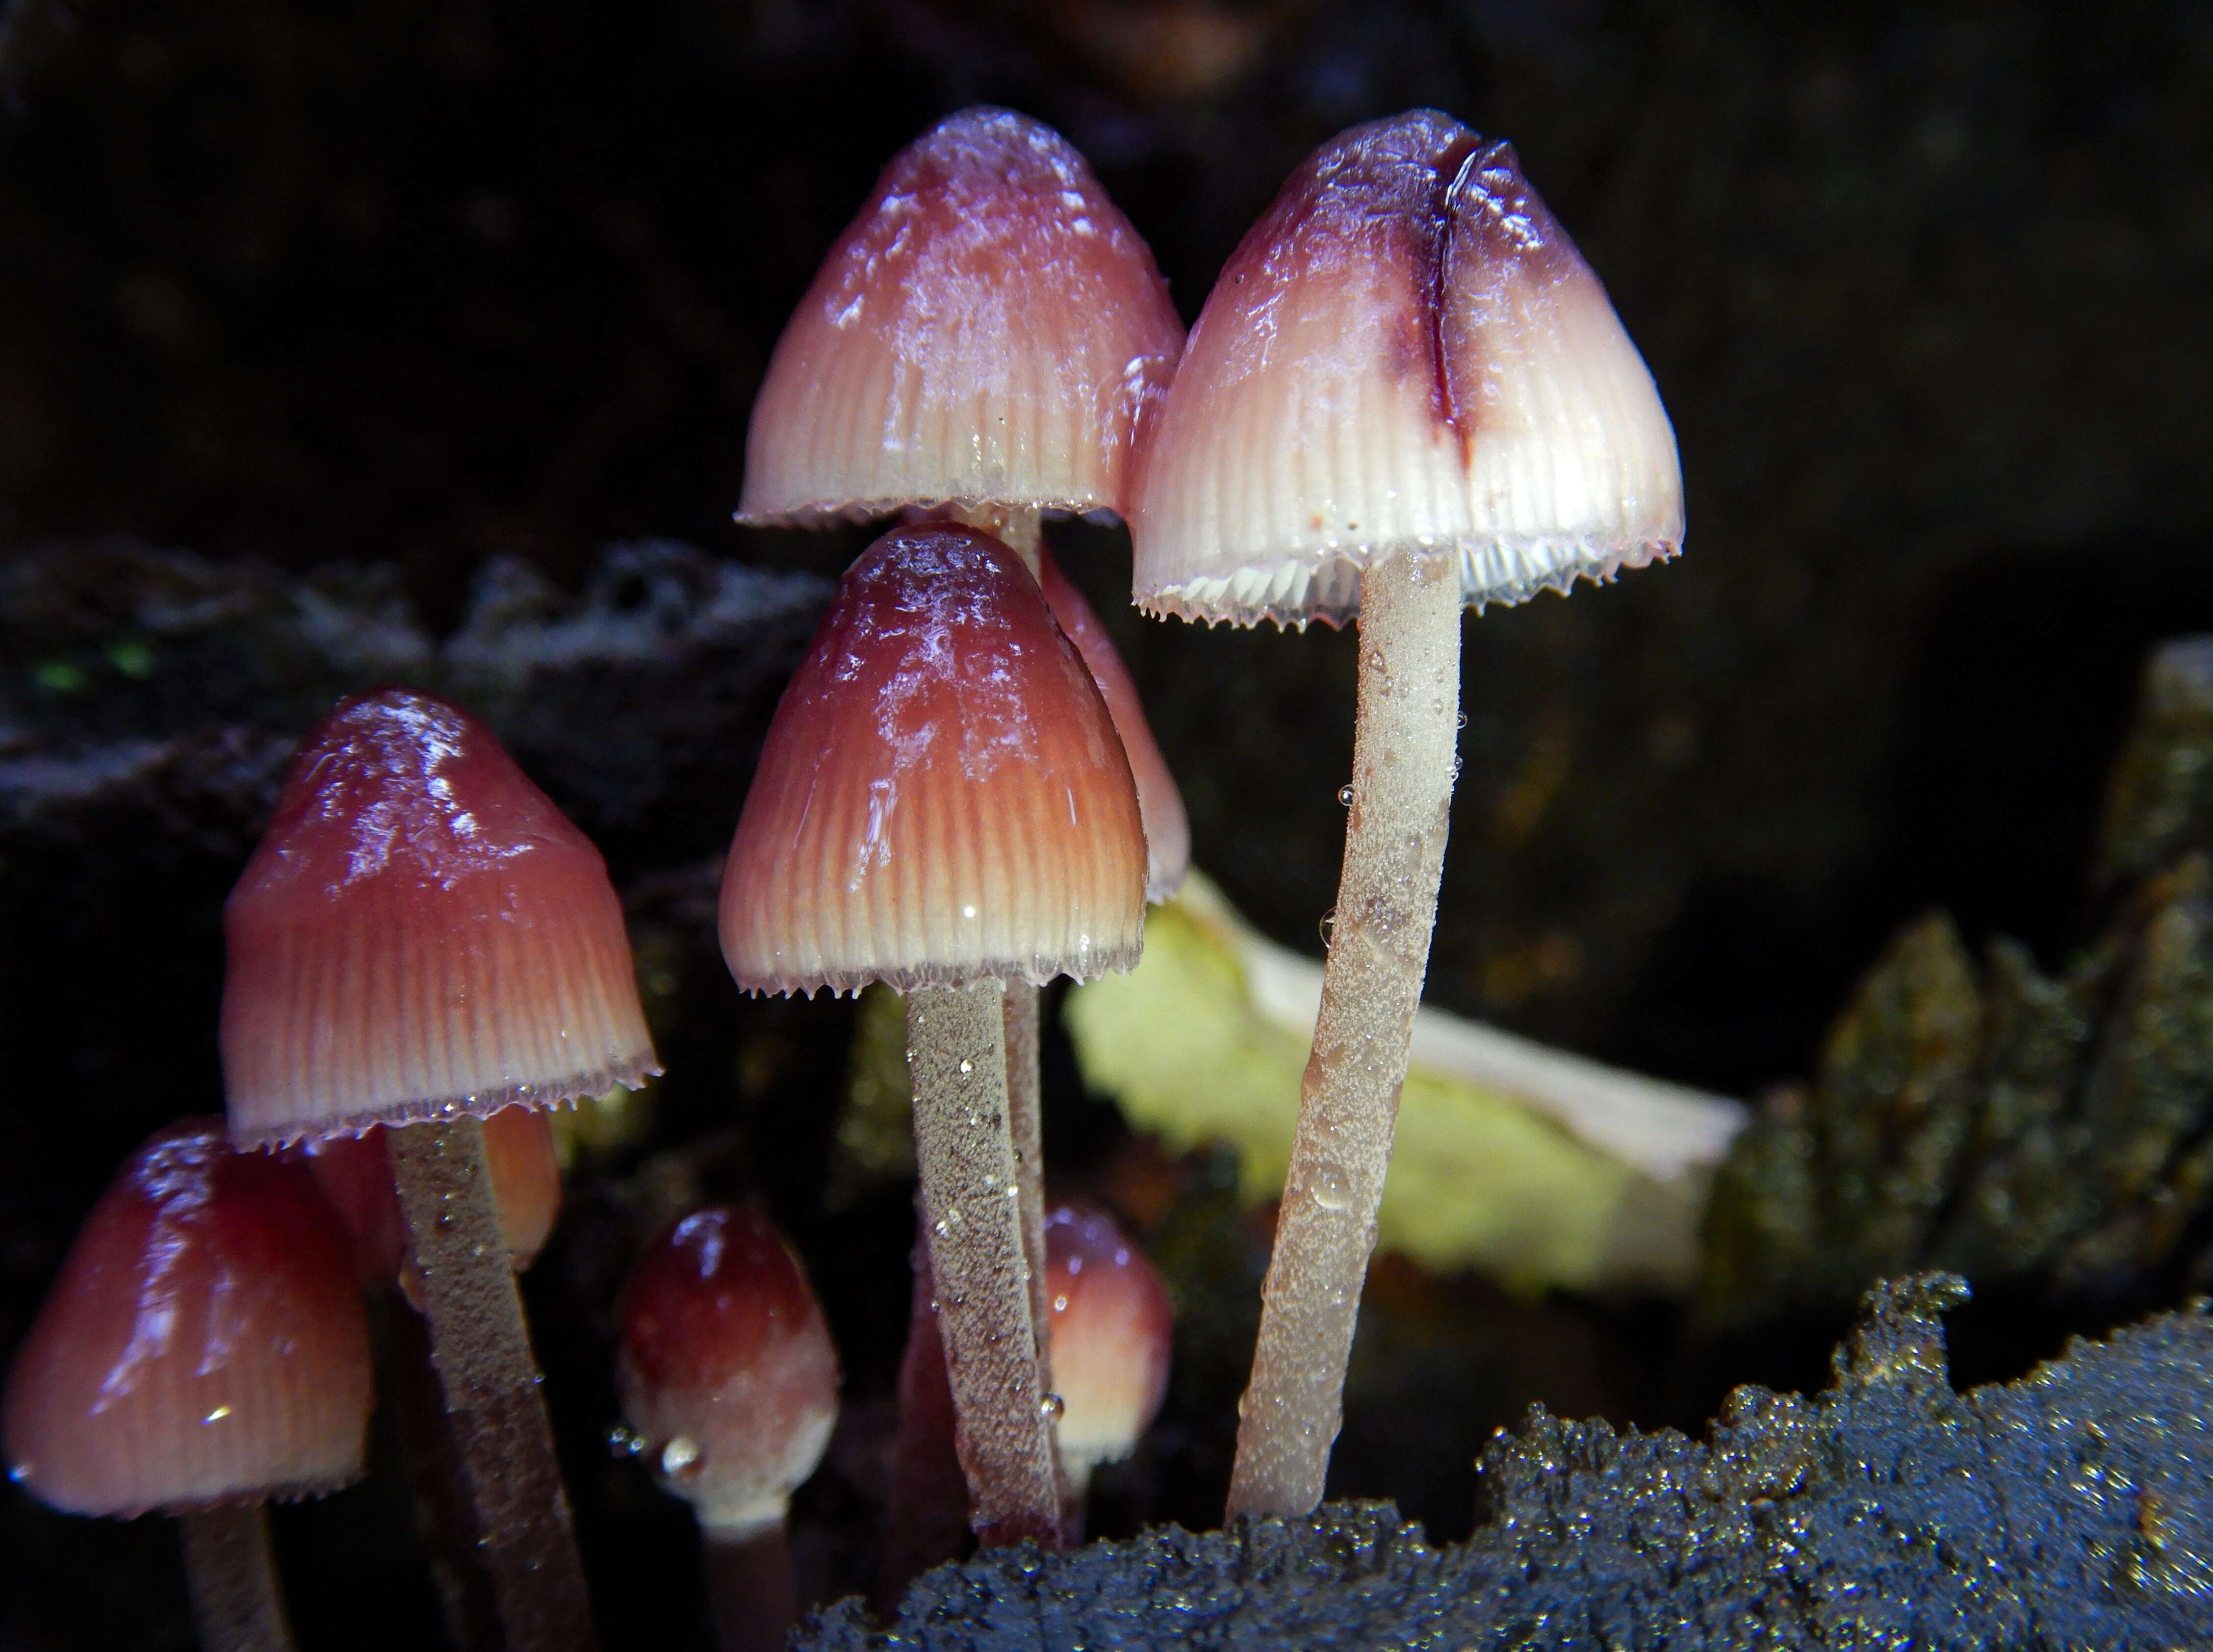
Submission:
[[[500,1207],[507,1260],[520,1273],[538,1260],[560,1216],[560,1160],[553,1125],[533,1107],[502,1107],[485,1121],[491,1200]],[[414,1300],[407,1267],[407,1216],[385,1156],[385,1127],[308,1143],[308,1169],[345,1227],[354,1273],[365,1289],[398,1287]]]

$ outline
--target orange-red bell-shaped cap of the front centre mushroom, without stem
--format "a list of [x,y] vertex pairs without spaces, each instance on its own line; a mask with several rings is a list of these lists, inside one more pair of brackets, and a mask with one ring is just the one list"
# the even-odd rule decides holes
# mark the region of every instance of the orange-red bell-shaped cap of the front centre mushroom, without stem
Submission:
[[1020,558],[923,523],[848,569],[721,877],[748,992],[1126,970],[1144,826],[1122,740]]

